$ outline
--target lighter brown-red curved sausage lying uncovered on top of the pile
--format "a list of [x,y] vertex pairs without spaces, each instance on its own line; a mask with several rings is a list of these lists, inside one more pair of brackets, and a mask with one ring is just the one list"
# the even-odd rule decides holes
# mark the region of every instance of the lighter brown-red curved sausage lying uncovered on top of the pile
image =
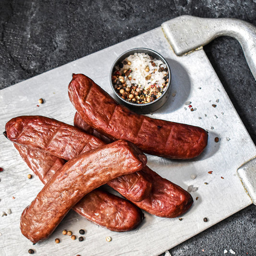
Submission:
[[33,243],[46,239],[86,194],[123,174],[140,171],[145,165],[146,156],[123,140],[72,158],[24,209],[22,233]]

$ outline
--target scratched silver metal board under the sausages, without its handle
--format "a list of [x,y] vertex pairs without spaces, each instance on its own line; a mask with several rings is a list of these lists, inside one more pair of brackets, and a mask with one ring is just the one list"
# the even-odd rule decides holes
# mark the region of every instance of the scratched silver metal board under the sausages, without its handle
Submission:
[[[123,51],[136,47],[158,51],[172,71],[171,97],[164,107],[149,116],[201,126],[209,132],[207,149],[193,160],[168,160],[148,155],[148,166],[162,177],[184,189],[189,185],[198,187],[192,192],[194,200],[197,196],[198,200],[182,216],[182,221],[145,213],[146,219],[138,229],[123,233],[110,232],[70,211],[49,239],[32,245],[21,234],[19,219],[43,185],[37,177],[27,179],[31,171],[12,143],[0,134],[0,164],[4,168],[0,176],[0,211],[12,210],[10,215],[0,217],[0,255],[27,255],[29,248],[40,256],[159,255],[252,203],[236,170],[256,155],[255,145],[204,51],[177,57],[161,28],[1,90],[0,130],[4,131],[5,123],[18,115],[44,115],[72,124],[75,110],[67,94],[72,73],[85,73],[113,95],[109,82],[111,65]],[[45,103],[37,107],[39,98],[44,98]],[[190,111],[186,101],[191,101],[196,110]],[[218,143],[214,142],[216,136],[220,138]],[[213,173],[208,174],[208,171]],[[194,173],[196,178],[192,180],[190,175]],[[203,221],[204,217],[208,222]],[[84,242],[61,234],[67,229],[78,235],[80,228],[86,230]],[[106,236],[112,237],[110,243],[105,241]],[[57,237],[61,239],[60,244],[54,243]]]

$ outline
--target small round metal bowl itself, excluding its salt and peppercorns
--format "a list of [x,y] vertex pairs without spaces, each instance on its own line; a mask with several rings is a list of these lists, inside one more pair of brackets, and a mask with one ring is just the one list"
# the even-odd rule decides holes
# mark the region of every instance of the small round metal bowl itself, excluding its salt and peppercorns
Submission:
[[[151,102],[148,102],[148,103],[142,103],[142,104],[132,103],[132,102],[129,102],[129,101],[121,98],[121,96],[117,93],[117,91],[112,83],[112,75],[115,71],[115,66],[119,65],[120,62],[122,62],[128,56],[133,55],[134,53],[146,53],[149,56],[152,56],[153,58],[162,61],[168,69],[169,82],[166,85],[165,91],[162,93],[162,95],[159,98],[157,98]],[[138,114],[151,113],[151,112],[154,112],[154,111],[158,110],[159,108],[161,108],[170,96],[170,93],[171,93],[171,69],[170,69],[170,66],[168,65],[167,61],[158,52],[151,50],[151,49],[146,49],[146,48],[131,49],[131,50],[124,52],[121,56],[119,56],[117,58],[117,60],[114,62],[114,64],[112,65],[112,68],[110,71],[110,85],[114,91],[116,100],[120,104],[125,105],[130,110],[132,110]]]

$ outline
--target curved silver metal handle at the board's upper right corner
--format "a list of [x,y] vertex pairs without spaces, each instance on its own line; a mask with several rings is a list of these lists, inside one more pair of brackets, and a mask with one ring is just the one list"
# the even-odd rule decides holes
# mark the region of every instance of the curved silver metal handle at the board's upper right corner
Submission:
[[256,79],[256,27],[232,18],[198,18],[184,15],[164,22],[162,30],[177,55],[202,47],[219,36],[236,38]]

